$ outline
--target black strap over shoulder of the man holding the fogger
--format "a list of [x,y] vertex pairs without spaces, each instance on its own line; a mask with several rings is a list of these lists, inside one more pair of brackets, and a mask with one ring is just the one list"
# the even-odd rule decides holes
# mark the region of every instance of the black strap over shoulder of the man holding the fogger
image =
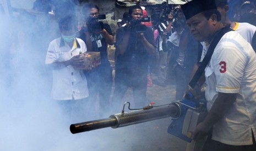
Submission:
[[230,26],[228,27],[224,27],[220,30],[220,32],[218,32],[213,41],[211,42],[210,46],[209,46],[209,49],[203,59],[203,61],[200,63],[200,66],[198,67],[197,69],[197,72],[195,72],[194,74],[194,77],[192,78],[192,80],[190,80],[188,86],[189,86],[189,89],[194,89],[195,88],[195,85],[197,84],[199,78],[201,77],[201,75],[204,73],[204,69],[205,67],[208,65],[210,59],[211,59],[211,56],[213,55],[214,53],[214,49],[217,45],[217,43],[219,43],[220,39],[222,36],[224,36],[225,33],[227,32],[230,32],[230,31],[233,31]]

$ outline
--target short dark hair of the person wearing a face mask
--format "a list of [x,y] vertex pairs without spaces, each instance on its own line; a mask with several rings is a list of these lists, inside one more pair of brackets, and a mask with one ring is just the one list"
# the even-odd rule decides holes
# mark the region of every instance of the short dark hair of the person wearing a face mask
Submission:
[[61,32],[63,29],[69,31],[72,27],[74,27],[74,29],[77,27],[77,20],[74,16],[68,15],[59,20],[59,30],[61,30]]

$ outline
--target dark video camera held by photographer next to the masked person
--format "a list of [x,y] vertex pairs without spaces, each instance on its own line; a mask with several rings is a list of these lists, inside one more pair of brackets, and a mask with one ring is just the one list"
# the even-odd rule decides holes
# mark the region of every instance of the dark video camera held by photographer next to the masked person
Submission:
[[88,25],[88,31],[90,32],[100,32],[103,28],[103,22],[100,19],[106,19],[106,15],[99,15],[97,18],[89,16],[86,19],[86,24]]

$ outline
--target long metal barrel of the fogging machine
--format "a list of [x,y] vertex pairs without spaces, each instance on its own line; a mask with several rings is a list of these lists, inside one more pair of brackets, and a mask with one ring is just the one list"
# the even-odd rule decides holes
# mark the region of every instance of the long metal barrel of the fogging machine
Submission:
[[130,112],[113,114],[109,118],[86,121],[70,125],[70,132],[79,133],[102,129],[105,127],[124,127],[146,121],[162,119],[167,117],[177,118],[181,114],[181,107],[178,103],[165,104],[150,109],[139,109]]

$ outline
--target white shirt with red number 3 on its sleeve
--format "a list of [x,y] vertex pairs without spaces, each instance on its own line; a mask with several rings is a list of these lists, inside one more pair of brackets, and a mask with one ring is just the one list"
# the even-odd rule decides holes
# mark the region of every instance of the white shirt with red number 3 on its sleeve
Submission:
[[216,45],[205,68],[208,111],[218,92],[237,93],[227,114],[213,126],[213,140],[231,144],[252,144],[256,135],[256,54],[236,31],[226,33]]

